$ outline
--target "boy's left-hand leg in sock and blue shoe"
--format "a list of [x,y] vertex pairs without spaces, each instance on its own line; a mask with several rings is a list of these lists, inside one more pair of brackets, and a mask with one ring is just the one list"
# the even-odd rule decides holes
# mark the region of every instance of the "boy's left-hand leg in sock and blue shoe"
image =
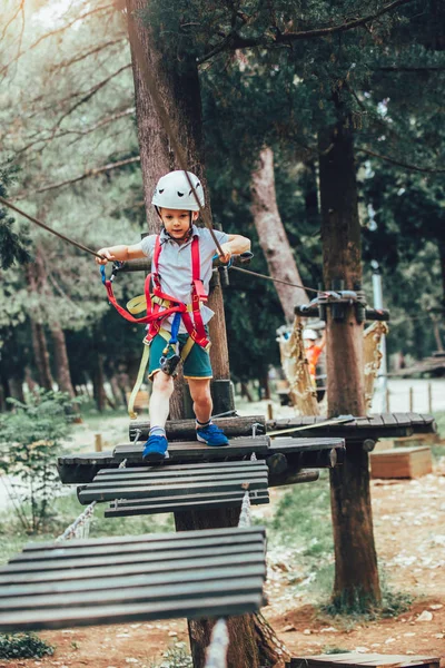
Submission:
[[149,404],[150,433],[144,448],[145,461],[161,461],[168,458],[166,422],[174,391],[174,379],[164,371],[156,370],[151,375],[152,391]]

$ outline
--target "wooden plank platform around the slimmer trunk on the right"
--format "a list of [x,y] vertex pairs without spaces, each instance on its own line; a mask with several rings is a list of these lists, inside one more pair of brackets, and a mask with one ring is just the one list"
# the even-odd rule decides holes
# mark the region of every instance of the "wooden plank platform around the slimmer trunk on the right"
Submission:
[[[294,426],[309,426],[317,422],[325,422],[326,418],[319,415],[305,415],[284,420],[268,420],[267,431],[290,429]],[[350,422],[330,424],[326,426],[310,428],[297,431],[293,438],[315,436],[340,436],[350,441],[364,441],[366,439],[378,440],[393,436],[411,436],[414,433],[435,433],[437,431],[433,415],[424,413],[382,413],[367,418],[356,418]]]

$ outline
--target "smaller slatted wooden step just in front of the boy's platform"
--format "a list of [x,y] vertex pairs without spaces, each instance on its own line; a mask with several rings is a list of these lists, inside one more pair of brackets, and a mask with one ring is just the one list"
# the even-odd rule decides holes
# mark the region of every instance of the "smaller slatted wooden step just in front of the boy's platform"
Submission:
[[119,500],[106,517],[240,508],[247,489],[251,503],[269,502],[267,475],[264,461],[102,470],[78,488],[78,498],[83,504]]

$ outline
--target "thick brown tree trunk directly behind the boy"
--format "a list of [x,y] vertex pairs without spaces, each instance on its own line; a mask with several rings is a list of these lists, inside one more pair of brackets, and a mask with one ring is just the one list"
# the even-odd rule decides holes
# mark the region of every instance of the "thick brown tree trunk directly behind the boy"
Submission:
[[[190,60],[187,63],[186,60],[182,59],[180,63],[181,67],[179,68],[176,52],[174,56],[170,52],[161,52],[158,46],[155,45],[155,40],[152,39],[149,29],[144,28],[136,18],[137,12],[144,10],[145,7],[146,0],[127,0],[145,202],[149,230],[154,234],[159,232],[159,219],[151,206],[151,195],[155,185],[160,176],[171,169],[178,169],[180,166],[177,161],[177,156],[172,154],[167,132],[154,108],[150,92],[139,65],[139,59],[141,57],[146,59],[150,72],[156,79],[157,91],[162,100],[171,127],[182,147],[188,167],[200,178],[205,187],[207,195],[207,210],[210,212],[210,208],[204,174],[201,100],[196,61]],[[135,47],[137,43],[135,36],[137,36],[138,42],[141,43],[144,53],[136,52],[138,50]],[[216,312],[215,318],[217,318],[210,325],[212,334],[211,361],[215,365],[214,377],[217,379],[219,374],[226,374],[222,375],[222,377],[228,380],[227,341],[220,288],[215,291],[215,294],[210,298],[210,305]],[[184,392],[180,382],[176,381],[175,385],[175,393],[170,400],[170,418],[181,419],[184,418],[185,411],[182,401]],[[218,520],[215,519],[214,512],[208,512],[207,515],[209,525],[218,525],[217,523],[215,524]],[[222,523],[219,525],[233,525],[229,521],[229,511],[221,511],[220,517],[222,518],[220,520]],[[201,657],[204,655],[202,642],[205,641],[205,638],[207,638],[206,633],[209,622],[200,620],[194,621],[192,623],[195,632],[190,632],[191,651],[194,656]],[[240,625],[241,622],[238,619],[236,625],[237,628],[240,628]],[[239,640],[239,642],[245,647],[255,647],[253,625],[246,621],[245,627],[246,630],[243,633],[243,640]],[[195,667],[201,665],[202,664],[200,662],[195,662]],[[255,668],[257,665],[257,662],[250,661],[231,664],[234,668],[235,666],[236,668],[240,668],[240,666],[251,666],[251,668]]]

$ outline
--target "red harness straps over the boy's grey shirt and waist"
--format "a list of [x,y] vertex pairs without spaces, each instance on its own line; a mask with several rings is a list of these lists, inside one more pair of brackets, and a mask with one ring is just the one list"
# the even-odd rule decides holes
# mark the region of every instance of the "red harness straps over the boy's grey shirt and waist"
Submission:
[[[159,279],[159,255],[161,252],[159,235],[156,237],[155,253],[154,253],[154,266],[155,271],[147,276],[145,282],[145,295],[147,301],[147,315],[144,317],[134,317],[128,311],[120,306],[112,292],[111,281],[106,281],[105,286],[108,293],[108,299],[115,306],[115,308],[130,323],[148,324],[148,333],[145,337],[145,342],[149,343],[159,333],[162,322],[174,313],[180,313],[184,325],[187,333],[191,338],[200,345],[206,347],[209,345],[206,330],[204,327],[202,317],[200,314],[200,302],[207,301],[207,294],[204,289],[202,281],[200,279],[200,256],[199,256],[199,237],[195,236],[191,242],[191,307],[192,307],[192,320],[187,311],[187,305],[179,302],[176,297],[168,295],[161,291]],[[150,293],[150,286],[152,285],[152,292]],[[171,306],[160,311],[160,305],[157,302],[151,301],[151,296],[159,297],[160,299],[168,299],[171,302]]]

